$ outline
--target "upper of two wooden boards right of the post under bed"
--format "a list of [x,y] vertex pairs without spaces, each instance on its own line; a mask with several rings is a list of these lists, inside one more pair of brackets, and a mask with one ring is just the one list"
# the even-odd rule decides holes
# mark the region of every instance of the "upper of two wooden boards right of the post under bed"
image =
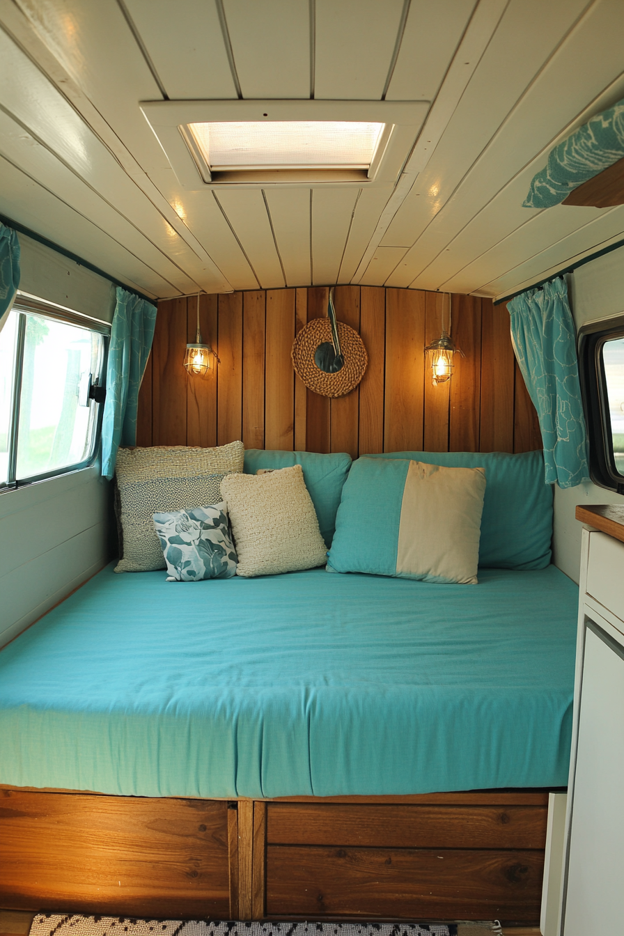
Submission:
[[545,806],[342,806],[268,803],[267,841],[378,848],[539,848]]

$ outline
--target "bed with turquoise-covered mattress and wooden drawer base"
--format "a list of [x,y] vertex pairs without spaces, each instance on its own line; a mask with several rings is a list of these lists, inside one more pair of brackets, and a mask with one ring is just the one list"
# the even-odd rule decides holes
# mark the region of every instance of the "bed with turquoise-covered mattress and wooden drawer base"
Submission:
[[164,579],[107,569],[0,653],[0,905],[536,923],[568,578]]

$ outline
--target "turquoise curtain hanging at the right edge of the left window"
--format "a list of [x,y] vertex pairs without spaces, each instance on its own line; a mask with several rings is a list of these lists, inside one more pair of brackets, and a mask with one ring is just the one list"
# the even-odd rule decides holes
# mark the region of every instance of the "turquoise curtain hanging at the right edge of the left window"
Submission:
[[119,446],[137,444],[138,389],[155,323],[155,305],[117,287],[102,421],[102,475],[109,479],[115,473]]

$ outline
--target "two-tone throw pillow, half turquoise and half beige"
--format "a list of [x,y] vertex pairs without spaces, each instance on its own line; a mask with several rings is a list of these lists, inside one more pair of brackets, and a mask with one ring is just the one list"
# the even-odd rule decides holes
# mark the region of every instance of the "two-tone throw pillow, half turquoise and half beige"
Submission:
[[361,458],[342,489],[335,572],[476,584],[486,473]]

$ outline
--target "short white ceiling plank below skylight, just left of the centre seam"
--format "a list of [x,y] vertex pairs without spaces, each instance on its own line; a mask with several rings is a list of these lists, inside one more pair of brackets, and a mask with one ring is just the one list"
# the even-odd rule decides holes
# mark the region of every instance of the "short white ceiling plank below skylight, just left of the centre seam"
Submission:
[[282,257],[286,285],[311,285],[310,189],[268,188],[265,197]]

